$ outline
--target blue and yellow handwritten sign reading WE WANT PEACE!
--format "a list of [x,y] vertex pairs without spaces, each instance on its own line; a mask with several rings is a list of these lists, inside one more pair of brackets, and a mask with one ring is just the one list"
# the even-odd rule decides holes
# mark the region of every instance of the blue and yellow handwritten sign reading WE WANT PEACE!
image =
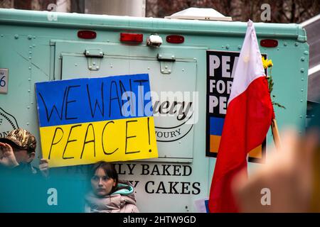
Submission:
[[50,167],[158,157],[148,74],[36,83]]

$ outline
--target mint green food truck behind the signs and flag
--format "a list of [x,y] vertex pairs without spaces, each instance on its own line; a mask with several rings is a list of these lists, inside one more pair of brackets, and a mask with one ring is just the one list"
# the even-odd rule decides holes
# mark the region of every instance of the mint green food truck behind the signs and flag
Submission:
[[[285,107],[274,106],[280,135],[288,126],[304,133],[306,32],[297,24],[254,25],[260,52],[273,62],[272,100]],[[132,181],[142,212],[206,211],[217,147],[210,144],[210,114],[225,115],[246,28],[247,23],[235,21],[0,9],[0,136],[26,128],[41,140],[37,82],[147,73],[151,91],[167,98],[183,95],[180,101],[153,100],[159,157],[117,162],[119,178]],[[215,64],[216,57],[221,64]],[[215,100],[212,110],[209,96]],[[165,115],[169,109],[176,110],[173,116]],[[193,121],[186,117],[191,115]],[[273,147],[270,130],[265,144],[252,153],[250,172],[263,165]],[[37,157],[42,157],[40,143]],[[50,171],[81,176],[87,165]]]

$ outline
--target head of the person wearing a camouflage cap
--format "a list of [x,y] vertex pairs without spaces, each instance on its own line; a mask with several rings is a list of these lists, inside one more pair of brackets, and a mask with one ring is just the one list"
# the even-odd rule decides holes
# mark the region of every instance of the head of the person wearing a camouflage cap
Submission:
[[6,138],[0,138],[0,142],[11,145],[18,163],[29,163],[36,157],[36,138],[25,129],[11,131]]

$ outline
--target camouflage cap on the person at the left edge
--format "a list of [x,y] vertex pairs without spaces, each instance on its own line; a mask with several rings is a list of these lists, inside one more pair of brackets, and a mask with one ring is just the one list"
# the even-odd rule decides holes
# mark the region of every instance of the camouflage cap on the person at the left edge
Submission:
[[23,150],[28,150],[28,153],[36,151],[37,141],[34,135],[23,128],[17,128],[11,131],[6,138],[0,138],[0,142],[16,145]]

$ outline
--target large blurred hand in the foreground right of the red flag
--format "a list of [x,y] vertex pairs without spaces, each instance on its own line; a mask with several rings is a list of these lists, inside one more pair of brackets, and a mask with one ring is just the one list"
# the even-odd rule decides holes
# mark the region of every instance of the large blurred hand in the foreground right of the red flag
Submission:
[[[272,151],[267,163],[247,179],[245,172],[233,181],[235,199],[242,212],[308,212],[313,187],[316,132],[299,138],[284,133],[282,148]],[[270,194],[270,204],[263,205]]]

